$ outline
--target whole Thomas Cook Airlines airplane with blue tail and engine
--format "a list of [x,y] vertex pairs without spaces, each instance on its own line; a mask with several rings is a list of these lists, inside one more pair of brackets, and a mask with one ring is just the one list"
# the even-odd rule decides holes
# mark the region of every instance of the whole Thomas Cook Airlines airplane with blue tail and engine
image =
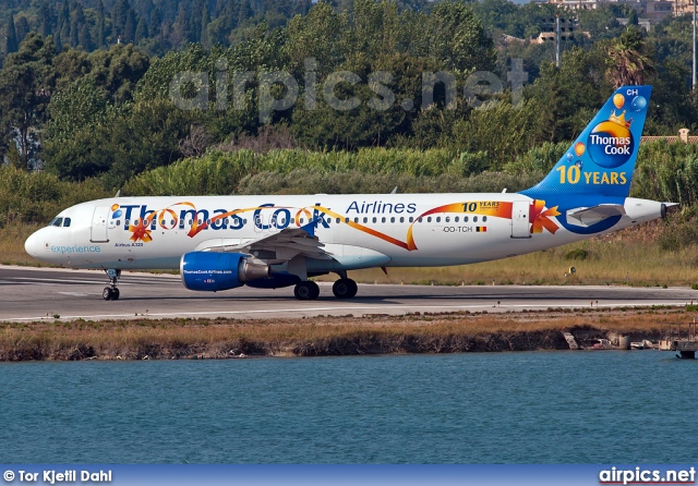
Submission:
[[119,299],[124,269],[177,269],[184,285],[222,291],[296,285],[335,272],[462,265],[585,240],[665,216],[671,204],[628,197],[651,86],[617,89],[535,186],[520,193],[115,197],[61,211],[26,252],[101,268]]

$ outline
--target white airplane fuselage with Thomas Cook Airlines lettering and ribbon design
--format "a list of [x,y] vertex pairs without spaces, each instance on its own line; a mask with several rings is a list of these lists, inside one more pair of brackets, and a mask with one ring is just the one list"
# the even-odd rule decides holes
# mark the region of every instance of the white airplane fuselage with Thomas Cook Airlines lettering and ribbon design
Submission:
[[[37,231],[25,247],[40,260],[75,268],[177,269],[188,252],[315,221],[332,258],[306,265],[323,272],[471,264],[599,234],[568,231],[558,221],[565,214],[547,207],[533,214],[532,203],[506,193],[119,197],[63,210],[59,226]],[[661,203],[645,199],[626,198],[623,207],[604,233],[662,211]]]

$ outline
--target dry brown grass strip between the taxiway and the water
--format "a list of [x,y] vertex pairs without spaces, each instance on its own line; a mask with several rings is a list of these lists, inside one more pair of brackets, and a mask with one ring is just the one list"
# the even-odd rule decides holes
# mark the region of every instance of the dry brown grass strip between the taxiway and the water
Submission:
[[142,360],[442,353],[567,349],[577,339],[626,333],[657,339],[661,325],[693,318],[687,311],[552,311],[504,315],[445,314],[315,319],[165,319],[0,324],[0,361]]

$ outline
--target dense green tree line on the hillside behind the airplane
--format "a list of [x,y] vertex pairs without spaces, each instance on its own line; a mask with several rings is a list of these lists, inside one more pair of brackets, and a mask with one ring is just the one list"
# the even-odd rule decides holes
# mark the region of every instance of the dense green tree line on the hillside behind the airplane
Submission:
[[[212,37],[212,25],[243,4],[10,0],[4,12],[19,34],[0,70],[3,160],[68,181],[98,178],[109,190],[184,158],[241,149],[437,149],[466,154],[468,173],[502,170],[534,147],[573,139],[628,80],[654,85],[648,134],[698,125],[688,19],[667,19],[648,34],[619,26],[623,12],[613,9],[580,12],[589,35],[569,40],[556,68],[551,45],[501,39],[534,34],[554,13],[551,5],[347,0],[296,10],[300,3],[252,2],[248,27],[228,23],[225,38]],[[52,13],[39,14],[45,8]],[[205,22],[192,13],[200,10]],[[153,56],[154,15],[172,33],[180,12],[194,34],[178,42],[165,36],[163,53]],[[276,21],[274,12],[282,12]],[[123,37],[142,20],[147,37]],[[80,42],[83,27],[97,39],[94,49]],[[119,35],[123,42],[115,42]],[[520,93],[512,81],[517,66]],[[192,109],[172,99],[181,73],[201,75],[174,86],[188,102],[206,95]],[[242,88],[237,73],[248,76]],[[293,80],[297,96],[261,118],[265,104],[285,99],[292,84],[265,82],[275,73]],[[336,82],[337,73],[345,77]],[[442,77],[425,84],[425,73]],[[202,80],[206,86],[197,85]],[[483,92],[497,83],[494,93]],[[348,109],[333,105],[351,100]]]

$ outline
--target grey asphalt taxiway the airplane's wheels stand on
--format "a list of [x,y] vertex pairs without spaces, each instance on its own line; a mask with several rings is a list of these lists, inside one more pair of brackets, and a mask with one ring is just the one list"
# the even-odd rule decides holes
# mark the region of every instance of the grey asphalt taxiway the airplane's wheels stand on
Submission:
[[320,283],[316,301],[298,301],[292,288],[246,287],[217,293],[186,290],[173,275],[124,272],[121,297],[104,301],[107,277],[101,271],[0,266],[0,320],[118,319],[172,317],[299,318],[440,312],[506,312],[549,307],[621,307],[685,305],[698,291],[685,288],[533,287],[533,285],[395,285],[359,284],[349,301]]

